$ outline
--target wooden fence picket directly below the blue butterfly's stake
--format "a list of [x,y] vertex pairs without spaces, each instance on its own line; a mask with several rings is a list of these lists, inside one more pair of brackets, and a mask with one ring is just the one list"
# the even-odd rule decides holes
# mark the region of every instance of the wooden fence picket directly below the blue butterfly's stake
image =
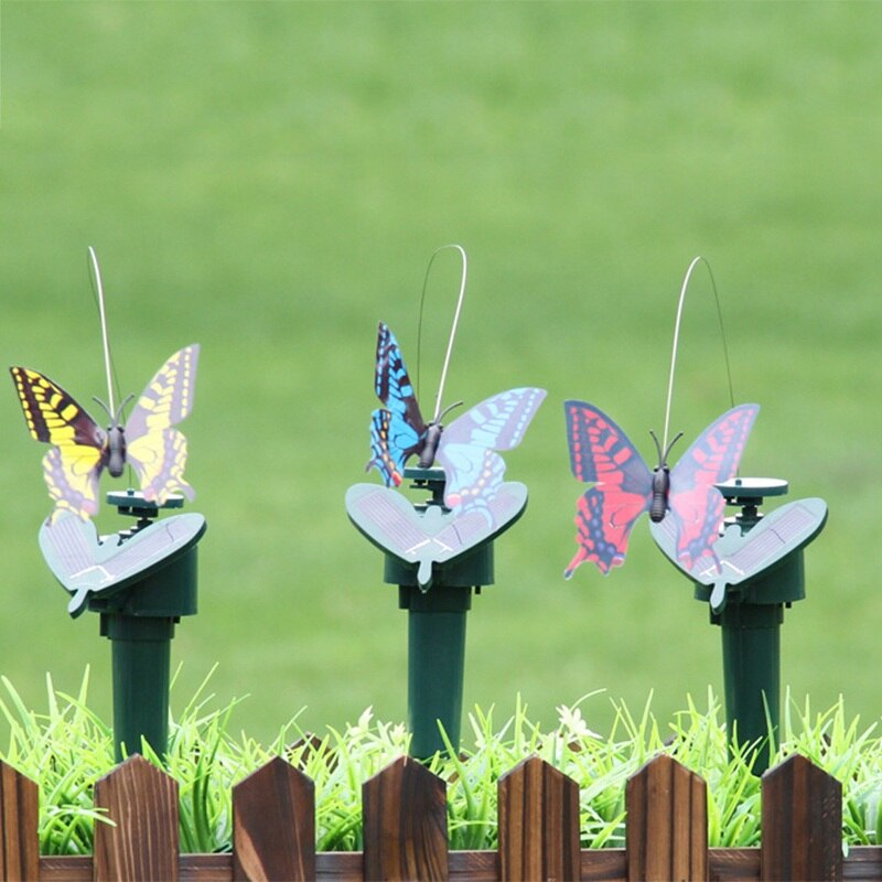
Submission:
[[369,880],[448,879],[447,785],[402,756],[362,786],[364,874]]

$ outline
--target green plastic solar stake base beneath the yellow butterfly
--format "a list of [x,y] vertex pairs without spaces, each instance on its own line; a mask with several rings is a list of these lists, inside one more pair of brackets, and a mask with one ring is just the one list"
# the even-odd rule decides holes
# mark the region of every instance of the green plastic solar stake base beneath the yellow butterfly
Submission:
[[[120,514],[136,525],[98,537],[94,524],[62,513],[40,530],[43,556],[72,594],[68,612],[100,616],[100,634],[111,642],[114,742],[141,752],[141,740],[158,754],[168,750],[169,677],[174,627],[196,612],[196,544],[205,533],[198,514],[155,520],[157,505],[139,493],[109,493]],[[180,507],[172,497],[163,507]]]

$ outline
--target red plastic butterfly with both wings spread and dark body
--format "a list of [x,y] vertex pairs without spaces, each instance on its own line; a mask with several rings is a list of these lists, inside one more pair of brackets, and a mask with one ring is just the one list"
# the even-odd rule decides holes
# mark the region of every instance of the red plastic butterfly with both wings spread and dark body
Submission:
[[704,556],[713,557],[725,501],[713,485],[734,477],[747,442],[757,405],[741,405],[712,422],[668,469],[663,451],[654,471],[627,435],[602,410],[585,401],[564,402],[570,467],[594,483],[579,499],[576,512],[579,550],[563,576],[569,579],[585,560],[604,574],[621,566],[634,521],[649,512],[656,523],[673,518],[677,555],[688,570]]

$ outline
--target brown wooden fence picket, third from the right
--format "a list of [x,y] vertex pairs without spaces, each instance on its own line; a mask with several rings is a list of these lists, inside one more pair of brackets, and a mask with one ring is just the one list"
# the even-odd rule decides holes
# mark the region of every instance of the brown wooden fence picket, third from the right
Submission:
[[578,880],[579,785],[538,756],[498,782],[499,878]]

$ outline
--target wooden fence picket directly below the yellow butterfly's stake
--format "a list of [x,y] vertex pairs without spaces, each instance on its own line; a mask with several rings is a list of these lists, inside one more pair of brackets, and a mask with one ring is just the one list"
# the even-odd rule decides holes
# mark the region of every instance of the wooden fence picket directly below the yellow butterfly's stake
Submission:
[[139,754],[95,783],[95,880],[178,880],[178,782]]

